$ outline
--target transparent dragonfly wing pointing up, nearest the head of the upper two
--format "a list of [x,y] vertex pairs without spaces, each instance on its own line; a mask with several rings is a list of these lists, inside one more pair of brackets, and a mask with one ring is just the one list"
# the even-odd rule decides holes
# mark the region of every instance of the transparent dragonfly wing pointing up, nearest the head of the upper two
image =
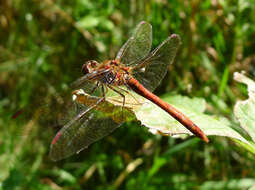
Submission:
[[121,47],[115,59],[127,66],[136,65],[144,59],[151,50],[152,27],[148,22],[140,22],[134,35]]

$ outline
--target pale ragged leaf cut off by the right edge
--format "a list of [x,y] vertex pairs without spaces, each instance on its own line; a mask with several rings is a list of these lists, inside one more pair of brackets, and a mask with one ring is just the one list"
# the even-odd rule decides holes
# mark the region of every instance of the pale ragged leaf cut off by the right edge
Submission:
[[234,114],[241,124],[241,127],[255,141],[255,82],[240,73],[234,74],[234,79],[248,86],[249,98],[238,101],[234,108]]

